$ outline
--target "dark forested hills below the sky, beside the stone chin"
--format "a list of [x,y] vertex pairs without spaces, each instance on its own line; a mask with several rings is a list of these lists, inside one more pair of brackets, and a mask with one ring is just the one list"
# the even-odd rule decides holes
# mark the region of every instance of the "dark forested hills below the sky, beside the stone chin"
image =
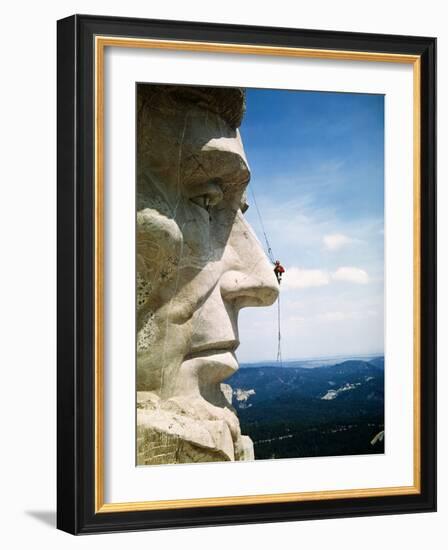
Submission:
[[[384,452],[384,359],[238,370],[233,389],[256,458]],[[373,444],[372,441],[375,441]]]

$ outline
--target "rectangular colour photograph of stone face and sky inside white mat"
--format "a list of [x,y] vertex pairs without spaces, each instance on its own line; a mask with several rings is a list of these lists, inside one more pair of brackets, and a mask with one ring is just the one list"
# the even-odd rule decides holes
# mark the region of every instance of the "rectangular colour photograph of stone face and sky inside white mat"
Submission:
[[136,84],[136,464],[385,452],[384,95]]

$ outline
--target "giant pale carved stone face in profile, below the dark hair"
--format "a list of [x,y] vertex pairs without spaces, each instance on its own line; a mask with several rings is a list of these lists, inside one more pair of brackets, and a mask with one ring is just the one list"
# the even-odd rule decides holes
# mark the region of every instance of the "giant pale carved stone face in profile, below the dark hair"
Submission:
[[[238,368],[239,310],[270,305],[278,294],[272,266],[242,212],[250,171],[229,120],[207,102],[179,94],[139,97],[138,424],[143,439],[156,430],[176,440],[176,458],[164,455],[161,462],[244,458],[238,419],[221,383]],[[184,424],[170,432],[173,417]],[[190,420],[196,424],[185,428]],[[211,454],[204,434],[196,433],[204,428]],[[141,440],[139,463],[154,463],[153,435],[146,445]],[[189,460],[180,456],[181,443]],[[202,454],[192,456],[191,445]]]

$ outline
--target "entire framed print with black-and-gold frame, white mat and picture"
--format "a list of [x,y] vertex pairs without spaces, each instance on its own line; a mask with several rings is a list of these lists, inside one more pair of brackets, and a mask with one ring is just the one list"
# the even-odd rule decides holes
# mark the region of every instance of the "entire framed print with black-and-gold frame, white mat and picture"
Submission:
[[434,511],[434,38],[58,21],[58,527]]

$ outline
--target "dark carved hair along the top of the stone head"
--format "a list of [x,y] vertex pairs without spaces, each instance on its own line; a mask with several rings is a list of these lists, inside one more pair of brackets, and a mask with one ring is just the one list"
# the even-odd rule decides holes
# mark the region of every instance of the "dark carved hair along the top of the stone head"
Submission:
[[137,99],[139,110],[192,104],[219,115],[233,130],[241,125],[246,108],[243,88],[138,84]]

